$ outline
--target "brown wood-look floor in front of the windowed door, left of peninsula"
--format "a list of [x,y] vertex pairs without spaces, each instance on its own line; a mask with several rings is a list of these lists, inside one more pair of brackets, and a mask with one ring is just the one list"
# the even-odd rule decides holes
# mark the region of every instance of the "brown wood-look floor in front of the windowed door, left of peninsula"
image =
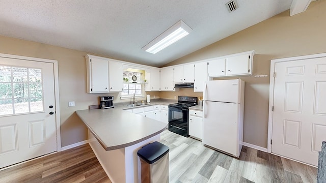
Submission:
[[0,171],[0,182],[111,182],[89,144]]

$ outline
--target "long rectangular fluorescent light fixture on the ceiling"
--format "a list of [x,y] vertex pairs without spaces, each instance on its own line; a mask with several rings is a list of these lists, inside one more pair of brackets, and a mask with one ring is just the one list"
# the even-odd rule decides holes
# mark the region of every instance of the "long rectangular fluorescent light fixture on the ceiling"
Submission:
[[181,38],[187,36],[192,31],[192,28],[180,20],[168,28],[164,33],[156,37],[153,41],[144,46],[142,49],[149,53],[155,54],[180,40]]

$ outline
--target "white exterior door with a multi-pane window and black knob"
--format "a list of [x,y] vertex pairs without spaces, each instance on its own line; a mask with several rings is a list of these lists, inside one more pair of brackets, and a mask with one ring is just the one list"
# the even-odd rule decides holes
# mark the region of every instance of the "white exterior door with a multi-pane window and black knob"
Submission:
[[57,150],[52,63],[0,58],[0,168]]

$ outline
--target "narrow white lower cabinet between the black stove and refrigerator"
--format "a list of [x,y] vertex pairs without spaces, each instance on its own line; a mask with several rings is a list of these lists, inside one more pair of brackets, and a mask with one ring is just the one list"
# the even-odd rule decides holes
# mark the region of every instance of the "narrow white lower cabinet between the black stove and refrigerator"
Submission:
[[203,139],[203,112],[189,110],[189,135],[197,139]]

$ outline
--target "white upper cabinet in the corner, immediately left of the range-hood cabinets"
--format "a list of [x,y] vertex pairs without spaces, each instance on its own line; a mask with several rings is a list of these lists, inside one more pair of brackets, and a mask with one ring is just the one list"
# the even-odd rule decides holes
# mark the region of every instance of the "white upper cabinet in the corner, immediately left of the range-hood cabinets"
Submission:
[[174,82],[173,82],[173,68],[161,68],[161,78],[160,78],[160,89],[161,91],[174,92]]

